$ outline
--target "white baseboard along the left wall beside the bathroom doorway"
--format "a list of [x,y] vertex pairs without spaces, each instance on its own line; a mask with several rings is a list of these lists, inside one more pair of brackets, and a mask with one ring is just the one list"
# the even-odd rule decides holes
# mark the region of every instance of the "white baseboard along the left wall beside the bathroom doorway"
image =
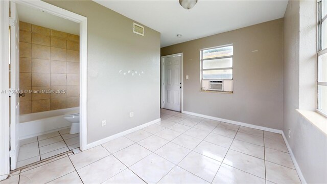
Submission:
[[125,131],[123,131],[123,132],[120,132],[120,133],[117,133],[117,134],[111,135],[111,136],[106,137],[106,138],[104,138],[104,139],[102,139],[102,140],[99,140],[99,141],[96,141],[96,142],[93,142],[93,143],[87,144],[87,145],[86,145],[86,150],[87,150],[87,149],[90,149],[90,148],[93,148],[93,147],[96,147],[96,146],[99,146],[99,145],[101,145],[101,144],[103,144],[103,143],[106,143],[106,142],[108,142],[108,141],[114,140],[114,139],[116,139],[116,138],[118,138],[118,137],[121,137],[121,136],[127,135],[127,134],[132,133],[132,132],[134,132],[134,131],[136,131],[136,130],[140,130],[140,129],[142,129],[142,128],[144,128],[144,127],[147,127],[147,126],[149,126],[149,125],[152,125],[152,124],[158,123],[158,122],[160,122],[160,121],[161,121],[161,119],[159,118],[159,119],[153,120],[153,121],[151,121],[151,122],[148,122],[148,123],[145,123],[145,124],[139,125],[139,126],[137,126],[137,127],[134,127],[134,128],[128,129],[128,130],[125,130]]

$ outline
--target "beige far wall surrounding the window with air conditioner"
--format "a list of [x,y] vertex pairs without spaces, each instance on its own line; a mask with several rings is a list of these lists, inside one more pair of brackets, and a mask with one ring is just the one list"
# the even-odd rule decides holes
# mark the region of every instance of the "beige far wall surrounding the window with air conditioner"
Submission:
[[[277,19],[161,48],[161,56],[183,53],[183,110],[281,130],[282,39]],[[231,43],[233,94],[201,92],[200,49]]]

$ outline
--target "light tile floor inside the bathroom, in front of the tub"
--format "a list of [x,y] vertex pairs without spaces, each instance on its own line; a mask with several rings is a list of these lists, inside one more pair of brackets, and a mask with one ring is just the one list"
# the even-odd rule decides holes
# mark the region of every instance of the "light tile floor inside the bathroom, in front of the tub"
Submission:
[[69,128],[20,140],[17,168],[78,148],[79,133]]

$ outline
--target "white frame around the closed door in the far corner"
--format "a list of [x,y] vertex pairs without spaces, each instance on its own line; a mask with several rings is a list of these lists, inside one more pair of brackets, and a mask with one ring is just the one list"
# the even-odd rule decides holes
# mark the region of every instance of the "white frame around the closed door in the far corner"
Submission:
[[161,75],[160,75],[160,78],[161,78],[161,80],[160,80],[160,88],[161,88],[161,90],[160,90],[160,93],[161,93],[161,95],[160,95],[160,108],[162,108],[162,107],[164,107],[164,104],[162,103],[162,99],[164,99],[164,87],[163,87],[163,82],[162,82],[162,80],[164,79],[164,74],[165,74],[165,71],[164,71],[164,65],[163,65],[163,63],[164,63],[164,61],[165,61],[165,59],[166,58],[168,58],[168,57],[174,57],[174,56],[181,56],[181,61],[180,61],[180,75],[181,75],[181,77],[180,77],[180,81],[181,81],[181,86],[182,86],[182,88],[181,88],[181,90],[180,90],[180,111],[182,112],[183,111],[183,90],[184,90],[184,78],[183,78],[183,53],[176,53],[176,54],[171,54],[171,55],[167,55],[167,56],[161,56],[161,63],[160,63],[160,67],[161,67]]

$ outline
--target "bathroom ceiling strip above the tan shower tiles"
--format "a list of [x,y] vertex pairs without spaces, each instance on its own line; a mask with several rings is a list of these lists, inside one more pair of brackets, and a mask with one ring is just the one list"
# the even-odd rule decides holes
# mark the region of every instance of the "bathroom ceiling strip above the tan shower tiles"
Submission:
[[[0,0],[1,1],[1,0]],[[16,4],[18,18],[30,24],[50,28],[65,33],[79,35],[80,25],[74,21],[67,20],[38,9]]]

